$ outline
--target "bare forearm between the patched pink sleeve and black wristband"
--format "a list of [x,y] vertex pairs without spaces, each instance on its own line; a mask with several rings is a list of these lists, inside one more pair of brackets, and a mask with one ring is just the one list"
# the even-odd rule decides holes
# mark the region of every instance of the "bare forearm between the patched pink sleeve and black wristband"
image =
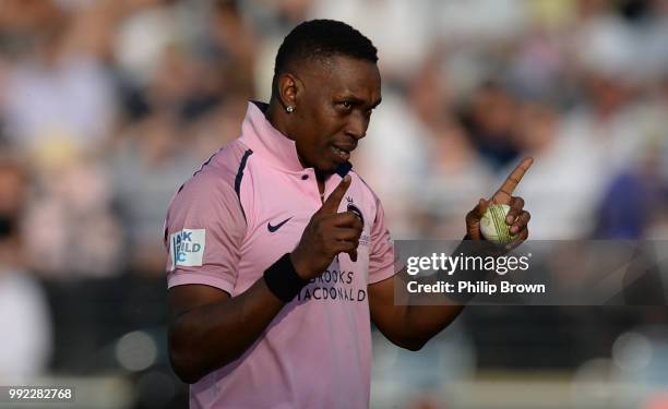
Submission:
[[264,278],[225,301],[176,316],[169,328],[170,359],[177,374],[194,383],[239,358],[283,309]]

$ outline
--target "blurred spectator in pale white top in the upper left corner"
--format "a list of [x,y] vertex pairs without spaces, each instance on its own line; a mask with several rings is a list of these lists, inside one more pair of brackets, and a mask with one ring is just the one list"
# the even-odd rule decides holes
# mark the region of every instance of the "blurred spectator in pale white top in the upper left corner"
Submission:
[[96,56],[75,47],[74,36],[85,35],[74,29],[75,16],[55,5],[47,10],[44,24],[32,27],[27,55],[12,63],[0,116],[13,143],[24,149],[46,143],[96,149],[115,122],[112,84]]

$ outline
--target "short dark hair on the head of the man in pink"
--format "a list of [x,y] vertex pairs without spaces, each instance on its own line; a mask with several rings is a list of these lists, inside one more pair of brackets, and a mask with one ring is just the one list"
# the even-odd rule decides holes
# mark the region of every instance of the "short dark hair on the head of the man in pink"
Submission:
[[335,20],[311,20],[293,28],[276,53],[274,82],[295,62],[353,57],[378,62],[378,50],[363,34]]

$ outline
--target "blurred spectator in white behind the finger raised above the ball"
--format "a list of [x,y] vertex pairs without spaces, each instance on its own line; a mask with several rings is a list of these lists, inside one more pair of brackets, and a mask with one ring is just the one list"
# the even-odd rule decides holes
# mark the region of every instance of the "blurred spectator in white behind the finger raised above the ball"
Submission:
[[[604,189],[597,145],[565,134],[559,117],[547,106],[524,104],[515,118],[518,146],[539,164],[516,192],[530,203],[532,239],[586,238],[596,224]],[[494,184],[514,166],[511,163],[499,171]]]

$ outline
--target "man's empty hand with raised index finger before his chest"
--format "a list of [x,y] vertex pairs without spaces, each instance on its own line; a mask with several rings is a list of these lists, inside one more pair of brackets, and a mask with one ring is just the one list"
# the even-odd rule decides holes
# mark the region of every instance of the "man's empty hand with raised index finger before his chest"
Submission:
[[295,270],[302,279],[321,275],[338,253],[348,253],[357,261],[357,246],[362,232],[362,222],[353,212],[338,212],[338,205],[350,185],[346,175],[322,207],[303,229],[297,248],[290,253]]

